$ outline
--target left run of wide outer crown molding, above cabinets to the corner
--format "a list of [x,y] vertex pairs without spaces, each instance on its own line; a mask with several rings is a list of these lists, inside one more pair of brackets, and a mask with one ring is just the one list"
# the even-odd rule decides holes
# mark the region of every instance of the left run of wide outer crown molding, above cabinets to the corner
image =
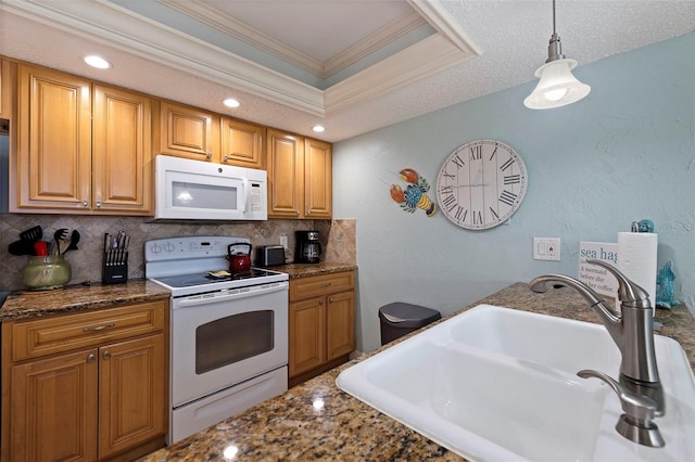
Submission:
[[14,13],[250,94],[324,116],[321,90],[104,0],[2,0]]

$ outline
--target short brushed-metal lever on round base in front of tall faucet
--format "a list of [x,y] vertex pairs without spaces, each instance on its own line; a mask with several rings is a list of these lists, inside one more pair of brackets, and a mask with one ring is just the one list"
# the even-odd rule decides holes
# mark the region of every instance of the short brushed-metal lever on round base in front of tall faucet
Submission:
[[624,412],[616,424],[616,431],[624,438],[650,448],[661,448],[666,442],[654,423],[656,401],[646,396],[635,395],[621,383],[603,372],[589,369],[577,373],[582,378],[595,377],[604,381],[620,398],[620,406]]

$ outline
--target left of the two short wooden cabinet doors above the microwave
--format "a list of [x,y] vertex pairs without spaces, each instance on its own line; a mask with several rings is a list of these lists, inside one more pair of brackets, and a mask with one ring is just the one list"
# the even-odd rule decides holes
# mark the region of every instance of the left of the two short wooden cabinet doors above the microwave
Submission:
[[163,101],[160,106],[160,143],[156,154],[219,162],[216,116]]

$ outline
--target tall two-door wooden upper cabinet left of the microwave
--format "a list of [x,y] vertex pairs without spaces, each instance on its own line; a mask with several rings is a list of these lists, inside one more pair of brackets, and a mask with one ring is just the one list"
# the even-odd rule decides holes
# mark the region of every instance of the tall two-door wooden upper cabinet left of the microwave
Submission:
[[20,65],[10,210],[151,215],[151,112],[144,95]]

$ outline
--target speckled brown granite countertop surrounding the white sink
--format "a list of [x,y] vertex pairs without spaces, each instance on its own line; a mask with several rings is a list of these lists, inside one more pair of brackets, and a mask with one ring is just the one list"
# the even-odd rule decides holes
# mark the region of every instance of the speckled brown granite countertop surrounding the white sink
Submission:
[[[460,311],[481,303],[598,322],[584,300],[569,290],[533,294],[526,284],[518,283]],[[680,342],[691,364],[695,364],[695,319],[687,309],[658,310],[657,319],[664,323],[658,333]],[[368,356],[319,375],[142,461],[460,461],[460,457],[336,386],[336,376],[343,369]],[[225,450],[236,451],[236,457],[225,458]]]

